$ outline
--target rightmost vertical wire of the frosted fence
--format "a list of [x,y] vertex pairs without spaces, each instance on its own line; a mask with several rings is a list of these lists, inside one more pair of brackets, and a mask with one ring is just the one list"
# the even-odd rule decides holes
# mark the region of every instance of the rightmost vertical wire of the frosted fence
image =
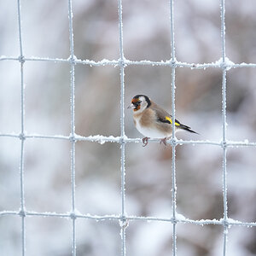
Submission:
[[228,240],[228,201],[227,201],[227,145],[226,145],[226,67],[225,67],[225,0],[221,0],[221,38],[222,38],[222,62],[223,62],[223,73],[222,73],[222,121],[223,121],[223,197],[224,197],[224,247],[223,255],[227,252],[227,240]]

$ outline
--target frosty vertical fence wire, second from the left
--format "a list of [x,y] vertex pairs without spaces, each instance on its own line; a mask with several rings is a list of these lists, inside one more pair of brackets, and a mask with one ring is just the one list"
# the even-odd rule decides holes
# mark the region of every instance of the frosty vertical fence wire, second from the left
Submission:
[[68,0],[69,48],[70,48],[70,102],[71,102],[71,183],[72,183],[72,255],[76,255],[76,217],[75,217],[75,61],[73,47],[73,10],[72,0]]

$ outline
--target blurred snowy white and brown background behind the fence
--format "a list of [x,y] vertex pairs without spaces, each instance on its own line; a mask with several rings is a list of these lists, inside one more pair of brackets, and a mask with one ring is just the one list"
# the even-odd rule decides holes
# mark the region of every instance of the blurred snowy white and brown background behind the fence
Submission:
[[[171,58],[169,3],[123,1],[124,52],[131,61]],[[21,1],[24,55],[68,58],[67,1]],[[175,1],[177,61],[215,62],[221,57],[219,1]],[[0,55],[19,56],[17,6],[0,2]],[[253,0],[226,3],[226,51],[236,63],[256,62],[256,5]],[[119,59],[116,0],[73,1],[74,51],[79,59]],[[68,63],[26,61],[27,134],[70,134]],[[137,94],[149,96],[171,112],[171,68],[125,67],[125,104]],[[227,73],[227,138],[256,140],[256,73],[236,68]],[[20,63],[0,61],[0,132],[20,133]],[[119,136],[119,67],[75,67],[75,125],[80,136]],[[176,117],[200,135],[178,138],[220,141],[222,71],[218,68],[176,71]],[[9,115],[10,114],[10,115]],[[142,137],[131,110],[125,109],[125,134]],[[128,215],[172,217],[172,148],[159,143],[126,144],[125,193]],[[71,211],[69,142],[27,139],[25,203],[27,211]],[[229,217],[256,221],[256,148],[228,148]],[[0,211],[20,208],[20,140],[0,137]],[[119,214],[118,143],[76,143],[76,208],[81,213]],[[222,149],[177,146],[177,212],[187,218],[222,218]],[[71,255],[71,221],[26,218],[26,255]],[[0,218],[0,255],[20,255],[20,217]],[[170,255],[172,224],[134,221],[127,229],[127,255]],[[231,227],[228,255],[256,255],[256,230]],[[223,228],[177,224],[181,256],[222,254]],[[78,255],[119,255],[119,223],[77,220]]]

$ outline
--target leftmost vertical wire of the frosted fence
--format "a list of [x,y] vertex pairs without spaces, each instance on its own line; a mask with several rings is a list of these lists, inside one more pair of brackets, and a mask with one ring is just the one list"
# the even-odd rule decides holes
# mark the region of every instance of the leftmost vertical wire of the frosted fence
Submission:
[[17,1],[18,7],[18,26],[19,26],[19,44],[20,44],[20,217],[21,217],[21,247],[22,255],[26,252],[26,222],[25,222],[25,195],[24,195],[24,119],[25,119],[25,99],[24,99],[24,56],[22,46],[21,32],[21,4]]

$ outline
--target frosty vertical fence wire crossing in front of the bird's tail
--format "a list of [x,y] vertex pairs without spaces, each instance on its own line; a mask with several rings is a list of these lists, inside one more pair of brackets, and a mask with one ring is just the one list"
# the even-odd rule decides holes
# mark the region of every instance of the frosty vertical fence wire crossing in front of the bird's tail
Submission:
[[175,42],[173,0],[170,0],[171,50],[172,50],[172,255],[177,253],[176,231],[176,137],[175,137]]

